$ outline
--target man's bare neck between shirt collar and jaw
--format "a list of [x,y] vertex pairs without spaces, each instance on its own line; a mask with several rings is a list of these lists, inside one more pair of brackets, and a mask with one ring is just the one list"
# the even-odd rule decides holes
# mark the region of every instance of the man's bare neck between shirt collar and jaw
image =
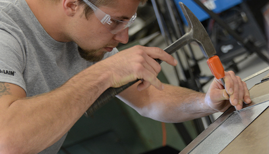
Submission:
[[33,14],[45,29],[45,31],[56,41],[70,41],[64,33],[64,23],[67,21],[62,10],[61,2],[53,3],[50,0],[26,0]]

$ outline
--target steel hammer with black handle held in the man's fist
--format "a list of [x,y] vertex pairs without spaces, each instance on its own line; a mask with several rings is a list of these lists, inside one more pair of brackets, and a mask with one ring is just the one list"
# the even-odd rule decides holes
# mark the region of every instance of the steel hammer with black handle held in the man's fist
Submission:
[[[183,4],[182,2],[179,2],[179,4],[188,22],[189,29],[187,33],[185,33],[177,41],[175,41],[174,43],[169,45],[167,48],[165,48],[164,51],[166,51],[169,54],[172,54],[176,52],[178,49],[180,49],[181,47],[185,46],[186,44],[196,41],[199,44],[204,56],[206,58],[211,58],[213,55],[216,54],[216,50],[210,40],[210,37],[206,29],[204,28],[202,23],[199,21],[199,19],[194,15],[194,13],[185,4]],[[162,63],[162,60],[160,59],[155,59],[155,60],[159,64]],[[210,62],[210,63],[214,63],[214,62]],[[219,67],[219,65],[217,65],[217,67]],[[223,66],[222,66],[221,71],[223,71],[223,74],[224,74]],[[89,115],[93,114],[97,109],[105,105],[110,99],[114,98],[117,94],[127,89],[128,87],[138,82],[139,80],[140,79],[129,82],[128,84],[121,86],[119,88],[112,88],[112,87],[108,88],[97,98],[97,100],[89,107],[89,109],[84,113],[84,115],[88,117]]]

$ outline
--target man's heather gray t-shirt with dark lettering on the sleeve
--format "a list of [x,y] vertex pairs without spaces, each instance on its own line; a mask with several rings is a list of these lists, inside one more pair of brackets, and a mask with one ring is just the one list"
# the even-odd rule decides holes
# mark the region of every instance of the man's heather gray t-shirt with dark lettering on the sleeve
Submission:
[[[50,37],[25,0],[0,0],[0,82],[18,85],[30,97],[61,86],[92,64],[80,57],[74,42]],[[40,154],[56,154],[65,137]]]

